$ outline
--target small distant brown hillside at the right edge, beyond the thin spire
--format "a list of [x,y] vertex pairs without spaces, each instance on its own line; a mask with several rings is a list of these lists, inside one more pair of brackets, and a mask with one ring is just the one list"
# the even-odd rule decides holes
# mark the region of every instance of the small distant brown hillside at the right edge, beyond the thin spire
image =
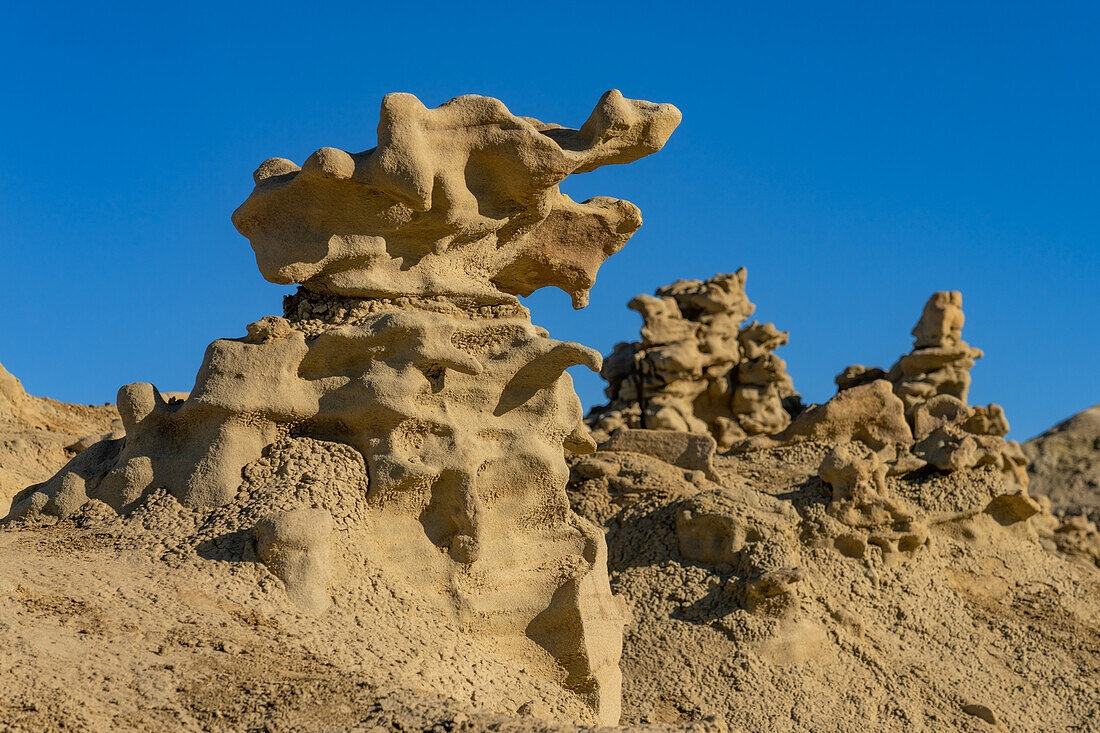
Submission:
[[1100,522],[1100,405],[1074,415],[1024,444],[1031,489],[1050,497],[1059,515]]

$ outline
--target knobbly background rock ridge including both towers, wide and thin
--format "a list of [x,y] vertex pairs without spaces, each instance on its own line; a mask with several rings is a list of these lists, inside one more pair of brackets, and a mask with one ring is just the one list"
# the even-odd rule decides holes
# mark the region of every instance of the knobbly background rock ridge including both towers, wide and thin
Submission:
[[682,280],[628,304],[641,314],[641,340],[604,360],[606,405],[585,417],[597,445],[622,429],[710,434],[718,450],[800,440],[861,440],[901,474],[932,466],[957,471],[994,464],[1027,485],[1026,458],[1005,440],[999,405],[966,404],[981,358],[961,338],[963,296],[935,293],[913,328],[913,351],[889,370],[859,364],[836,378],[837,396],[806,409],[773,351],[788,333],[741,325],[756,309],[746,272]]

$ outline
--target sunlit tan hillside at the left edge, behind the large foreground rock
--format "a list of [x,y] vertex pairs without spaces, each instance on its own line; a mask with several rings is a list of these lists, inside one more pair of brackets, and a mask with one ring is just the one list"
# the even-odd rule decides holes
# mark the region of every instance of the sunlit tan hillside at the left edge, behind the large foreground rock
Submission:
[[113,405],[70,405],[35,397],[0,364],[0,515],[11,497],[107,434],[122,428]]

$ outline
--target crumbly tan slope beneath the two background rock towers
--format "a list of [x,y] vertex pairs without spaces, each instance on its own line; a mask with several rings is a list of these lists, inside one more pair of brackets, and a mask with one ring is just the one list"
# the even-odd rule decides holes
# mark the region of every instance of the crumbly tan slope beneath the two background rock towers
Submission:
[[632,614],[624,723],[1098,730],[1100,572],[999,515],[991,466],[889,478],[908,518],[846,524],[822,478],[836,449],[718,456],[721,486],[653,481],[638,453],[576,459],[574,506],[612,508],[612,589]]

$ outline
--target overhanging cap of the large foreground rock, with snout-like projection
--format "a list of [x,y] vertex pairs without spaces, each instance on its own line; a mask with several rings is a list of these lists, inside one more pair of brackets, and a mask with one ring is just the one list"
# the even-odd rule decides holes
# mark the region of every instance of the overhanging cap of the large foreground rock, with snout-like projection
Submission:
[[392,94],[382,100],[377,147],[322,147],[300,168],[265,161],[233,223],[273,283],[486,304],[553,285],[580,308],[641,214],[614,198],[573,201],[558,184],[654,153],[679,123],[672,105],[614,89],[580,130],[516,117],[490,97],[428,109]]

